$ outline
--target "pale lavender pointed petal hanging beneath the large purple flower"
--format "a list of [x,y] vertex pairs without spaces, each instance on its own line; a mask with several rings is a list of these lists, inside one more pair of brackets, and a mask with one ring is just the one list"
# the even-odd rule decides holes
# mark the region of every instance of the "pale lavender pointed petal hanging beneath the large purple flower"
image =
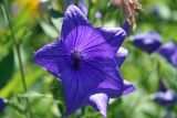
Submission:
[[97,93],[90,96],[88,104],[106,118],[108,100],[106,94]]

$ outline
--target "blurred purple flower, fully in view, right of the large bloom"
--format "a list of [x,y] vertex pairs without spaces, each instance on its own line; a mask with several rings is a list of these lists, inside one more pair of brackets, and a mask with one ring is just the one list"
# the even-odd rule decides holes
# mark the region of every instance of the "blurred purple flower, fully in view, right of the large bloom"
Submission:
[[160,40],[162,37],[158,33],[149,31],[134,35],[133,44],[150,54],[159,49],[162,45]]

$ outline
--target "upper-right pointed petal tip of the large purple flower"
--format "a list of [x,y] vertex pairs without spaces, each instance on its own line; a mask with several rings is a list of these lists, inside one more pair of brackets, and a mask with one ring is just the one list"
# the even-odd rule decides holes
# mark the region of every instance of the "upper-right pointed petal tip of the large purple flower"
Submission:
[[101,32],[110,45],[118,50],[125,37],[128,35],[129,24],[126,22],[122,28],[96,28],[96,30]]

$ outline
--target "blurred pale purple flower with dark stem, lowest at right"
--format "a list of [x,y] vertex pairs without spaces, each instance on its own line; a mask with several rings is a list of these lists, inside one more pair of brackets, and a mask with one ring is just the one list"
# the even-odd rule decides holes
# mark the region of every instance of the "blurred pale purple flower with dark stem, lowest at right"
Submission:
[[167,88],[164,82],[160,82],[159,92],[154,95],[154,100],[162,106],[170,108],[177,101],[177,95],[173,89]]

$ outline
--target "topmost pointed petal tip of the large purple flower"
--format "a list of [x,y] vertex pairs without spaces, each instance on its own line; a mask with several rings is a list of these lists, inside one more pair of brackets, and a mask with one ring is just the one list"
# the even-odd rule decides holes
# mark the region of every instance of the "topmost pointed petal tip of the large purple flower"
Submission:
[[69,6],[64,13],[62,37],[65,39],[74,28],[80,25],[91,25],[91,23],[79,8]]

